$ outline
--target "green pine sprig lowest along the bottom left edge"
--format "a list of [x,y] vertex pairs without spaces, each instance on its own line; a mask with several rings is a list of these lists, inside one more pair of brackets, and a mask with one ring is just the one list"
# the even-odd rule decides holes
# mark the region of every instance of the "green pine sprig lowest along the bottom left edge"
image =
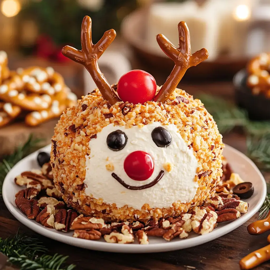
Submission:
[[58,255],[53,256],[42,255],[37,258],[29,259],[25,255],[17,254],[16,257],[9,258],[9,262],[20,266],[21,270],[72,270],[76,267],[74,264],[62,266],[66,263],[68,256]]

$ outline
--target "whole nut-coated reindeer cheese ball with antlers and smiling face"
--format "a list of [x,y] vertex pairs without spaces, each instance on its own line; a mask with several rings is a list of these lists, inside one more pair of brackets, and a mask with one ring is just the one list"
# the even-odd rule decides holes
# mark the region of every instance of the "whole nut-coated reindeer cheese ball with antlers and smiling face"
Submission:
[[141,70],[110,86],[97,60],[116,34],[109,30],[93,45],[88,16],[82,50],[63,48],[85,65],[98,87],[62,114],[52,138],[56,187],[80,213],[106,221],[175,217],[202,204],[220,181],[223,144],[217,125],[200,100],[176,88],[208,52],[191,55],[186,24],[178,29],[179,48],[157,36],[175,62],[161,88]]

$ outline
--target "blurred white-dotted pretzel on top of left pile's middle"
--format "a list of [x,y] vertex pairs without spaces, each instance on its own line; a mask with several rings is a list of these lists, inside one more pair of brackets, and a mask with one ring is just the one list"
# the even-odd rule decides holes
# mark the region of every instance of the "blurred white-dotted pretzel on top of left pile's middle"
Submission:
[[63,90],[65,82],[63,77],[53,68],[30,67],[18,68],[17,73],[24,83],[25,90],[33,93],[54,95]]

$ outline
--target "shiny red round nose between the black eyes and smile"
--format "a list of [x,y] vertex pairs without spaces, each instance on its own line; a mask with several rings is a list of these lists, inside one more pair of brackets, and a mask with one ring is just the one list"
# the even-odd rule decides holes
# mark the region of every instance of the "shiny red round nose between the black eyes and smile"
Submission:
[[124,170],[131,179],[143,181],[152,175],[154,171],[154,161],[146,152],[135,151],[126,157]]

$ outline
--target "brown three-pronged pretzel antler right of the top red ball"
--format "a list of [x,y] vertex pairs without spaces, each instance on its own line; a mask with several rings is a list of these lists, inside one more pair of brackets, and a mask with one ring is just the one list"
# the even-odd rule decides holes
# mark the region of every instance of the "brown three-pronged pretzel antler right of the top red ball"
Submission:
[[154,101],[163,102],[173,93],[188,68],[197,66],[208,58],[207,49],[203,48],[191,54],[190,34],[185,22],[178,23],[179,48],[176,48],[165,36],[157,35],[160,48],[175,63],[173,71],[161,87]]

